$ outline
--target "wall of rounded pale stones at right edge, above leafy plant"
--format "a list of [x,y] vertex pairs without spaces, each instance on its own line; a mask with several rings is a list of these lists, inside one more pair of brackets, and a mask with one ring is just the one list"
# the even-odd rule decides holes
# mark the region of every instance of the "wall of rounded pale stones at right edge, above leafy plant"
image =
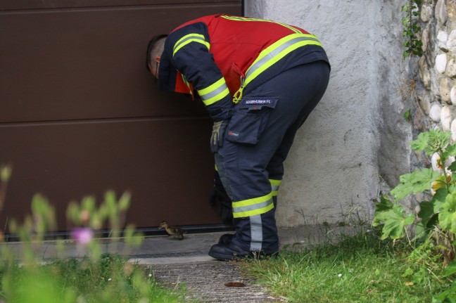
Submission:
[[418,62],[414,127],[451,130],[456,141],[456,0],[423,1],[420,19],[424,56]]

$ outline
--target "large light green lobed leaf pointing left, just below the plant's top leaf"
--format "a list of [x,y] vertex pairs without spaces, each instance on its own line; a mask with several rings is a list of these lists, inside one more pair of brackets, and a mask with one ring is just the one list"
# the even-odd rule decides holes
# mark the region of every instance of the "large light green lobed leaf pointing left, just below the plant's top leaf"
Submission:
[[434,172],[433,169],[415,169],[411,174],[403,174],[399,177],[400,184],[393,188],[391,195],[397,202],[407,195],[422,193],[431,189],[432,182],[436,181],[440,172]]

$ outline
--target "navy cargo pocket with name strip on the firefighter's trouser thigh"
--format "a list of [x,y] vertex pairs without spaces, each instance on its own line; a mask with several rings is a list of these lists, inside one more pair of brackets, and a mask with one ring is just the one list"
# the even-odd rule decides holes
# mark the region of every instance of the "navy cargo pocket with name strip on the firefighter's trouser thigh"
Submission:
[[243,98],[236,105],[225,138],[234,143],[258,143],[277,101],[279,98]]

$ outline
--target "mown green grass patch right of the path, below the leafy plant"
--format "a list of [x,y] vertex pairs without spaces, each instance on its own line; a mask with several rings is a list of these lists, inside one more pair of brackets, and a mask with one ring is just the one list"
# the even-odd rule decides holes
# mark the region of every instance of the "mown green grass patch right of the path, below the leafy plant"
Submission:
[[288,302],[432,302],[450,282],[433,276],[433,264],[410,262],[408,255],[406,244],[362,231],[241,266]]

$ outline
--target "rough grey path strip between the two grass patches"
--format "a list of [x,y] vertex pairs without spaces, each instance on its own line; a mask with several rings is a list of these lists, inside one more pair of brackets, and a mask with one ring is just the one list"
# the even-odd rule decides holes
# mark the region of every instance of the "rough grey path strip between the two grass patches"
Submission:
[[[191,264],[153,264],[155,278],[169,287],[184,283],[192,299],[197,302],[271,303],[283,302],[272,297],[265,287],[243,276],[235,262],[195,262]],[[226,283],[242,283],[243,287],[229,287]],[[232,283],[233,284],[233,283]]]

